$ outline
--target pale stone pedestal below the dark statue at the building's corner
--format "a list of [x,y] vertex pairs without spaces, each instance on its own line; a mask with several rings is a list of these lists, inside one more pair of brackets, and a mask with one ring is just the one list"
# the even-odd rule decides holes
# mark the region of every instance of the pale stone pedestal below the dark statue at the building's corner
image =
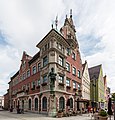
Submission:
[[50,95],[50,106],[48,116],[55,117],[57,115],[56,111],[56,97],[54,95]]

